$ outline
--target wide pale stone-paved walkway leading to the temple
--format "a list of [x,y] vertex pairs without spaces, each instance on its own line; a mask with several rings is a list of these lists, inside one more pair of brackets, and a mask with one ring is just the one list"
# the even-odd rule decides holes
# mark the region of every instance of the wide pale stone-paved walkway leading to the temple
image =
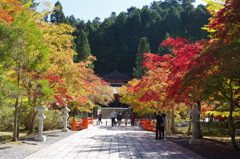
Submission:
[[134,126],[90,126],[25,159],[203,159],[167,139]]

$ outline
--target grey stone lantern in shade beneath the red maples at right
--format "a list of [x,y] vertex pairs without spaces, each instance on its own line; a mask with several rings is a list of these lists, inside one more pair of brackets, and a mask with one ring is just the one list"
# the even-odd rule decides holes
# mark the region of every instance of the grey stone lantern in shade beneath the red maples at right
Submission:
[[193,104],[192,109],[189,111],[191,115],[192,122],[192,138],[189,140],[189,144],[200,144],[200,140],[197,139],[197,123],[200,122],[198,119],[198,115],[200,114],[199,110],[196,108],[196,104]]

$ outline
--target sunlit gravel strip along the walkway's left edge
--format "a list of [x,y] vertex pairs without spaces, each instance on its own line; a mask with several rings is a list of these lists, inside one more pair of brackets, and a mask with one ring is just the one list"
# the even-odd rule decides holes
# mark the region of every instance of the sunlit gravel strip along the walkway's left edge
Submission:
[[68,137],[77,131],[62,132],[52,130],[43,132],[46,141],[34,141],[35,135],[19,138],[17,142],[0,143],[0,159],[23,159],[59,140]]

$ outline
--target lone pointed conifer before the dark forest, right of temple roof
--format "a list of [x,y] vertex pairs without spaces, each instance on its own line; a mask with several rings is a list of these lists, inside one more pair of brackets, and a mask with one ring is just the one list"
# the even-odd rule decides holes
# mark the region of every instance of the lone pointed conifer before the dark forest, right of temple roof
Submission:
[[138,45],[138,53],[137,53],[137,57],[136,57],[136,68],[133,68],[133,77],[134,78],[138,78],[140,79],[144,73],[145,73],[145,69],[142,68],[142,62],[143,62],[143,54],[147,53],[147,52],[151,52],[150,51],[150,46],[148,43],[148,40],[146,37],[142,37],[140,39],[139,45]]

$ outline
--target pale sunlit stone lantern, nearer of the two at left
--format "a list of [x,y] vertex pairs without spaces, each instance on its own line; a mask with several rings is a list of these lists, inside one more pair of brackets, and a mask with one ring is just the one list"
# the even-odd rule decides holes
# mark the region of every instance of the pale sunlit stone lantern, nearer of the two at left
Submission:
[[44,113],[44,111],[47,110],[47,108],[42,103],[35,110],[38,111],[38,114],[36,116],[36,119],[38,119],[38,136],[35,136],[34,140],[35,141],[46,141],[46,136],[43,136],[43,120],[46,119],[46,116],[43,113]]

